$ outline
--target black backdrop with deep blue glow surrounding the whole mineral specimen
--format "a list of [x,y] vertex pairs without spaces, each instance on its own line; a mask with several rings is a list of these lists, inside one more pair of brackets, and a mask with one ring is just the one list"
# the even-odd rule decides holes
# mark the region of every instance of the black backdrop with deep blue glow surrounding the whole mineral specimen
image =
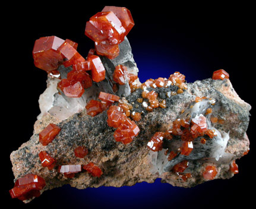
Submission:
[[[128,40],[137,62],[141,82],[148,78],[168,78],[175,71],[184,74],[188,82],[194,82],[210,78],[213,71],[223,68],[229,72],[230,81],[239,96],[252,105],[250,94],[252,77],[248,78],[252,69],[249,65],[252,55],[248,51],[252,40],[252,22],[250,13],[244,10],[243,5],[238,5],[236,10],[224,8],[223,4],[215,5],[216,8],[213,5],[211,7],[204,5],[204,9],[196,5],[185,9],[183,6],[173,4],[168,7],[148,4],[146,8],[133,4],[118,6],[130,9],[135,21],[134,28],[128,34]],[[15,62],[21,64],[22,68],[15,72],[17,74],[12,77],[12,82],[17,89],[22,88],[26,94],[18,94],[17,98],[10,98],[12,103],[8,107],[10,110],[18,107],[15,114],[21,122],[15,124],[18,138],[7,140],[8,149],[5,157],[7,156],[6,169],[9,174],[4,190],[5,200],[9,205],[19,208],[41,208],[49,205],[50,208],[88,209],[217,208],[220,205],[235,208],[237,204],[245,201],[245,207],[249,205],[252,201],[248,190],[252,179],[251,162],[255,160],[252,148],[255,146],[252,141],[252,110],[247,132],[251,139],[251,151],[248,156],[237,160],[239,174],[232,179],[218,179],[187,189],[160,183],[160,179],[156,179],[154,183],[142,182],[121,188],[103,186],[78,190],[66,185],[44,192],[40,198],[27,205],[18,200],[11,200],[8,190],[13,186],[14,177],[8,156],[12,150],[17,150],[30,138],[34,121],[40,113],[37,100],[46,87],[45,72],[33,65],[31,52],[34,40],[52,35],[71,39],[78,43],[78,52],[86,56],[93,47],[93,42],[84,36],[86,21],[103,7],[103,4],[84,7],[83,13],[75,11],[74,14],[69,15],[69,18],[38,15],[30,10],[29,16],[26,17],[23,15],[24,11],[13,13],[15,18],[10,24],[15,27],[8,28],[13,34],[9,37],[8,43],[11,47],[9,46],[8,49],[18,49],[18,52],[21,52],[15,58]],[[34,17],[36,21],[31,21]],[[18,36],[17,31],[19,31]],[[241,82],[246,79],[248,82]],[[22,102],[17,104],[17,100]],[[7,123],[11,124],[11,122],[12,118],[7,116]]]

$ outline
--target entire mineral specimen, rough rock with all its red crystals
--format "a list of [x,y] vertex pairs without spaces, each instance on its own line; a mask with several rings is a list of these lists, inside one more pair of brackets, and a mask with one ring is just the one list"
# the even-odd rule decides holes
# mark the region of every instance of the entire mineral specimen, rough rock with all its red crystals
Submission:
[[85,33],[96,49],[86,58],[72,40],[36,40],[34,64],[48,73],[48,88],[32,137],[11,153],[12,198],[29,202],[67,183],[84,189],[161,178],[188,188],[238,173],[251,106],[229,74],[187,83],[172,72],[141,84],[126,37],[133,26],[124,7],[93,15]]

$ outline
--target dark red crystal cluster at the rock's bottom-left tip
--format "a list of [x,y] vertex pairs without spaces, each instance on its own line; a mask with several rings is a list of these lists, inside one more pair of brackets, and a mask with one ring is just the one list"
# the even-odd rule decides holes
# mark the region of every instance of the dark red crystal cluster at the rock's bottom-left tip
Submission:
[[28,200],[40,196],[40,190],[45,187],[46,183],[43,178],[34,174],[27,174],[17,179],[14,188],[10,190],[12,198],[19,200]]

